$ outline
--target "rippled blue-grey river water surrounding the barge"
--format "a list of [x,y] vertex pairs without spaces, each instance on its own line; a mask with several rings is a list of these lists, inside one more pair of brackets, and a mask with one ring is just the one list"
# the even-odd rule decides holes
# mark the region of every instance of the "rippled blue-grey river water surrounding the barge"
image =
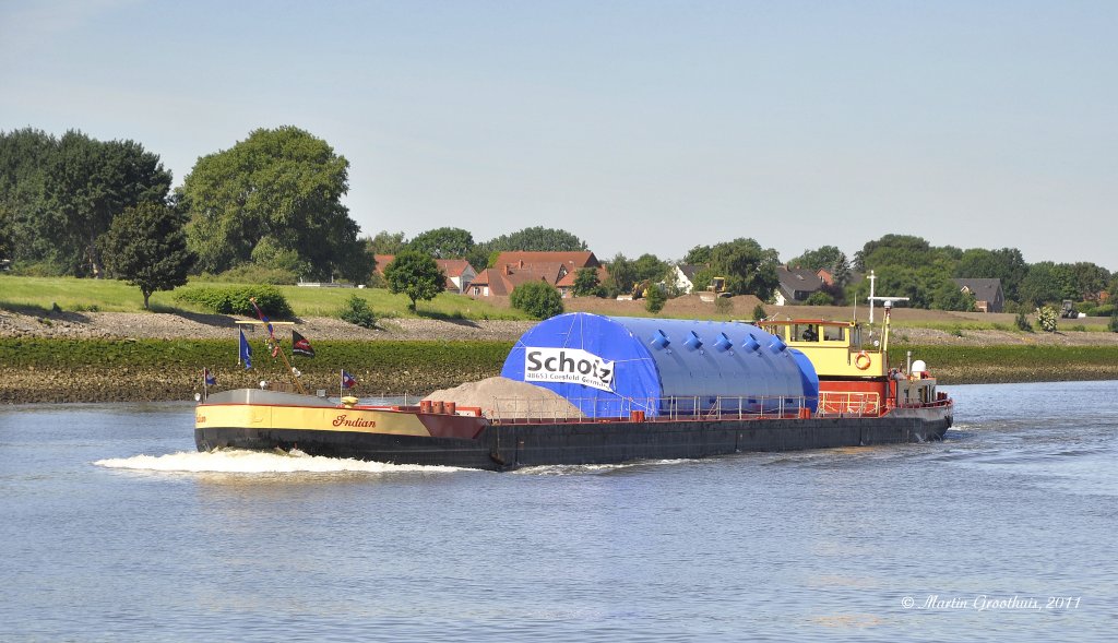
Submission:
[[1118,381],[947,441],[486,473],[0,408],[0,641],[1112,641]]

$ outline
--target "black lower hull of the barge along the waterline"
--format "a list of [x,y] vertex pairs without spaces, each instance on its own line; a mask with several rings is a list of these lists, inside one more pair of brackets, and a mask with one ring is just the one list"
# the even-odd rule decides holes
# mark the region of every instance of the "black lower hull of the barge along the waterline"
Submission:
[[297,448],[310,455],[492,471],[616,464],[741,452],[803,451],[940,441],[950,405],[881,417],[490,424],[472,438],[297,428],[200,427],[200,451]]

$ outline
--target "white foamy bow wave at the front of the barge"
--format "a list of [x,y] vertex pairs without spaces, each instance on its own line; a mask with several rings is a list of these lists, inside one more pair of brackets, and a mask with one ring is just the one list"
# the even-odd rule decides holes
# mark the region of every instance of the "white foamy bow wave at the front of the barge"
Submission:
[[387,464],[306,455],[300,451],[285,453],[263,453],[257,451],[222,450],[208,453],[184,452],[165,455],[133,455],[94,462],[108,469],[133,471],[164,471],[180,473],[397,473],[423,471],[449,473],[468,471],[453,466],[423,466],[418,464]]

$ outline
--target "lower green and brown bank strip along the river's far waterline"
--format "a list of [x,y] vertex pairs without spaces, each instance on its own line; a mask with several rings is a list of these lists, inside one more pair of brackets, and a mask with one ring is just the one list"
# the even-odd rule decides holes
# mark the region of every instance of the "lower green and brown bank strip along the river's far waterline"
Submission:
[[[359,396],[421,395],[498,375],[508,341],[316,341],[318,357],[293,358],[311,390],[337,391],[341,369]],[[922,359],[944,385],[1118,379],[1118,347],[894,346]],[[282,379],[283,363],[254,346],[254,368],[236,362],[228,340],[0,339],[0,404],[191,399],[201,369],[218,388]]]

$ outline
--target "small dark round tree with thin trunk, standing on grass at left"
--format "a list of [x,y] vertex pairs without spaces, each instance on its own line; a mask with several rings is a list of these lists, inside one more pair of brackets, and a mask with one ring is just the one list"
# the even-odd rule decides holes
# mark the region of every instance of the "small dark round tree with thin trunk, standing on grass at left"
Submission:
[[187,248],[184,224],[167,206],[142,204],[116,216],[102,237],[110,274],[140,286],[144,310],[151,293],[187,283],[187,273],[196,257]]

